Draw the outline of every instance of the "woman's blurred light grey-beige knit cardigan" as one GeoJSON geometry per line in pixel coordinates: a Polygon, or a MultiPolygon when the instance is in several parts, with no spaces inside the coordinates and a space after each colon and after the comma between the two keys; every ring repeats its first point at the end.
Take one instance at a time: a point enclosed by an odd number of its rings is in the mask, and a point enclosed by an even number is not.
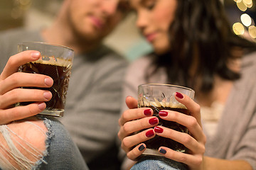
{"type": "MultiPolygon", "coordinates": [[[[142,57],[129,66],[123,98],[137,98],[139,84],[166,84],[163,70],[146,82],[144,73],[151,69],[150,62],[149,57],[142,57]]],[[[122,105],[122,111],[126,110],[124,101],[122,105]]],[[[235,81],[228,96],[216,135],[207,138],[205,155],[220,159],[242,159],[256,170],[256,52],[242,59],[242,77],[235,81]]]]}

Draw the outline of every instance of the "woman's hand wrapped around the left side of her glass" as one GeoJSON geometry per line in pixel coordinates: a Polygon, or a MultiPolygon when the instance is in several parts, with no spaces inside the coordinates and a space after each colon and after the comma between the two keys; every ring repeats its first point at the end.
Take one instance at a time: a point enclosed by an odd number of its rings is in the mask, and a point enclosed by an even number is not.
{"type": "Polygon", "coordinates": [[[127,157],[136,160],[146,148],[146,145],[142,142],[156,135],[153,127],[158,125],[159,120],[152,116],[151,108],[137,108],[138,103],[135,98],[128,96],[126,103],[129,110],[124,111],[121,118],[119,118],[118,137],[122,142],[122,149],[127,153],[127,157]],[[135,134],[140,130],[144,131],[135,134]],[[138,145],[139,143],[142,144],[138,145]],[[138,146],[134,147],[135,145],[138,146]]]}

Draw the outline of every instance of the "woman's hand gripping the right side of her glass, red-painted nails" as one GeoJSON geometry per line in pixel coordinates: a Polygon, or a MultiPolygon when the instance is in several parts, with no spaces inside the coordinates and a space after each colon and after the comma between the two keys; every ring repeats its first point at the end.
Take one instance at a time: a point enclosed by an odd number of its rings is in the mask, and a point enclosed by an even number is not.
{"type": "Polygon", "coordinates": [[[204,135],[201,125],[200,106],[186,95],[176,93],[176,100],[182,103],[191,115],[185,115],[176,111],[160,111],[159,116],[164,120],[174,121],[188,128],[189,134],[171,130],[162,126],[156,126],[156,135],[167,137],[176,142],[180,142],[189,149],[188,154],[176,152],[167,147],[160,147],[159,152],[164,157],[176,162],[187,164],[190,169],[203,169],[203,154],[205,152],[206,135],[204,135]]]}

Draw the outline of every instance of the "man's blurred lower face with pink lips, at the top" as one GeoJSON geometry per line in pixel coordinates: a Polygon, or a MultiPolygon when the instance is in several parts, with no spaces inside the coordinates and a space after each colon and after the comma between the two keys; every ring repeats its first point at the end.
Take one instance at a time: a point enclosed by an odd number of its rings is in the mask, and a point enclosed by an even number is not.
{"type": "Polygon", "coordinates": [[[79,38],[102,40],[123,17],[118,5],[119,0],[70,0],[68,22],[79,38]]]}

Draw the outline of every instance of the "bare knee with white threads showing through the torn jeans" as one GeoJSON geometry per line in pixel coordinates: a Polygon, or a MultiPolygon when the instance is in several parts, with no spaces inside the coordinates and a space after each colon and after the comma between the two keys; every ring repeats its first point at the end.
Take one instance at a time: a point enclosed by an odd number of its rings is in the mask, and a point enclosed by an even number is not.
{"type": "Polygon", "coordinates": [[[4,130],[0,135],[0,145],[4,150],[0,150],[0,154],[6,158],[5,164],[15,168],[32,167],[43,157],[48,132],[43,120],[19,120],[6,125],[4,130]]]}

